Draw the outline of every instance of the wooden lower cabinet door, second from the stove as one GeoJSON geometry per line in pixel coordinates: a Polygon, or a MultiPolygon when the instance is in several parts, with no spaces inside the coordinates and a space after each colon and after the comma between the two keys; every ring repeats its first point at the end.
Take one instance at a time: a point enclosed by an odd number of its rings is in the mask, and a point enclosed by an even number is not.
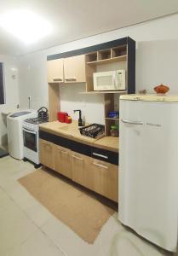
{"type": "Polygon", "coordinates": [[[55,171],[72,177],[71,150],[55,145],[55,171]]]}

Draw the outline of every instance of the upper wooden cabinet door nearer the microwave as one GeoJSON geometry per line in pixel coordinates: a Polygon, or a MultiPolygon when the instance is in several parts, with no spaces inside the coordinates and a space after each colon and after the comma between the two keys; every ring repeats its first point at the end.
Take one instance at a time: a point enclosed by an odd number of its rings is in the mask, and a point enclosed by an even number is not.
{"type": "Polygon", "coordinates": [[[64,59],[64,74],[66,83],[85,82],[84,55],[78,55],[64,59]]]}

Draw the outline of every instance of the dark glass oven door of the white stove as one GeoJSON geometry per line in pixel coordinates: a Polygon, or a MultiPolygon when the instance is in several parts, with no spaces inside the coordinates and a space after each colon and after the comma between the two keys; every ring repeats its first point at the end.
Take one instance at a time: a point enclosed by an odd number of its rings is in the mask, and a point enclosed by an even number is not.
{"type": "Polygon", "coordinates": [[[24,147],[37,152],[37,131],[30,131],[23,128],[24,147]]]}

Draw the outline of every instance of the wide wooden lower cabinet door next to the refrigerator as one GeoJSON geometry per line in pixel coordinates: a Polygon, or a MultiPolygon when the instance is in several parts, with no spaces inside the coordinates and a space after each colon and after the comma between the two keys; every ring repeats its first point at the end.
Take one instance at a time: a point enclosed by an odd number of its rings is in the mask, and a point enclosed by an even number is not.
{"type": "Polygon", "coordinates": [[[118,201],[118,166],[91,160],[87,172],[87,187],[112,201],[118,201]]]}

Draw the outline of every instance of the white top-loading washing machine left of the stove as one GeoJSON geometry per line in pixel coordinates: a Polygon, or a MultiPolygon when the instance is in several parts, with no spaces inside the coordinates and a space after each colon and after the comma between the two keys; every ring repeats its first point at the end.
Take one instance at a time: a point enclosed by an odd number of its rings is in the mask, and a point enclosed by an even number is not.
{"type": "Polygon", "coordinates": [[[9,154],[16,159],[23,159],[22,121],[36,118],[37,110],[26,109],[10,113],[7,118],[9,154]]]}

